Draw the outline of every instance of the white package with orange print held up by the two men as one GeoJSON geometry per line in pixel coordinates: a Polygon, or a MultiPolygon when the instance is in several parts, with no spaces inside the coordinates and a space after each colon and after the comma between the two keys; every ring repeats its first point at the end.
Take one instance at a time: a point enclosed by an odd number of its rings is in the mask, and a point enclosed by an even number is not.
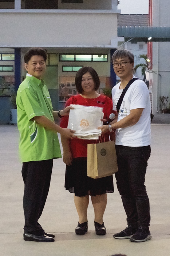
{"type": "Polygon", "coordinates": [[[68,128],[75,130],[74,133],[81,139],[98,139],[102,126],[103,108],[71,104],[74,109],[70,110],[68,128]],[[82,138],[83,137],[83,138],[82,138]]]}

